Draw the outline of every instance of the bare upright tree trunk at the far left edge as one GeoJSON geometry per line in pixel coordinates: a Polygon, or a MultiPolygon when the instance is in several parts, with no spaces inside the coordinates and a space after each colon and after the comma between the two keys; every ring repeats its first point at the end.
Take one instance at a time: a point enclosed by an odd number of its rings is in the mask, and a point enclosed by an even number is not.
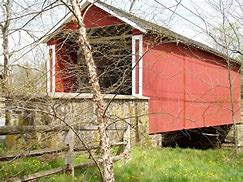
{"type": "Polygon", "coordinates": [[[3,36],[3,91],[4,93],[7,92],[8,84],[9,84],[9,59],[10,59],[10,51],[9,51],[9,25],[10,25],[10,17],[11,17],[11,2],[10,0],[7,0],[3,3],[2,6],[3,13],[4,13],[4,20],[5,22],[3,24],[0,24],[1,27],[1,33],[3,36]]]}

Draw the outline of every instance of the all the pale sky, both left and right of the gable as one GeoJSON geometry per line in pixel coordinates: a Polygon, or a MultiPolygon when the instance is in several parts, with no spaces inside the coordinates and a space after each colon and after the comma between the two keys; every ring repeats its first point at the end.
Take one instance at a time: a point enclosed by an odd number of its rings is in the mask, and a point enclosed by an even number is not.
{"type": "MultiPolygon", "coordinates": [[[[22,0],[16,1],[21,3],[23,2],[22,0]]],[[[129,11],[131,7],[131,0],[104,1],[126,11],[129,11]]],[[[217,27],[220,24],[220,19],[216,16],[215,11],[209,5],[210,0],[181,0],[180,4],[176,6],[178,1],[179,0],[136,0],[130,12],[136,16],[152,21],[161,26],[165,26],[188,38],[211,46],[212,42],[210,41],[208,35],[205,33],[205,21],[207,24],[217,27]],[[201,18],[195,14],[199,14],[201,18]]],[[[37,10],[41,7],[41,2],[43,2],[43,0],[25,0],[24,2],[27,4],[31,4],[32,2],[33,5],[31,8],[37,10]]],[[[67,12],[68,10],[66,8],[59,6],[51,11],[45,12],[40,17],[36,18],[26,27],[26,29],[30,29],[34,36],[41,37],[67,12]]],[[[16,5],[15,14],[18,13],[23,13],[23,10],[21,10],[21,8],[17,8],[16,5]]],[[[0,21],[1,19],[2,16],[0,16],[0,21]]],[[[26,19],[28,19],[28,17],[26,19]]],[[[13,22],[12,28],[21,27],[24,22],[26,22],[26,20],[22,22],[13,22]]],[[[25,45],[28,45],[31,42],[33,42],[33,38],[25,31],[16,31],[11,35],[11,49],[15,50],[17,47],[23,47],[21,51],[14,54],[14,62],[19,62],[19,60],[24,62],[26,60],[28,61],[34,59],[33,62],[38,63],[41,61],[38,60],[38,58],[41,57],[42,59],[43,57],[41,54],[48,54],[48,50],[43,45],[40,47],[42,49],[41,51],[30,51],[36,45],[32,44],[31,46],[27,47],[25,47],[25,45]],[[26,52],[28,52],[28,54],[23,57],[20,56],[26,52]]],[[[0,60],[3,60],[1,53],[0,60]]]]}

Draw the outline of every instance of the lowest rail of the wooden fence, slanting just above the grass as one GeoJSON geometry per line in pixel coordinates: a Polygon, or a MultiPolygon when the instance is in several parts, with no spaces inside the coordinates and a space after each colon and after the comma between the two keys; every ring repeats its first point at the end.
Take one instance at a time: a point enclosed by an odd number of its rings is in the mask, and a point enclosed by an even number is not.
{"type": "MultiPolygon", "coordinates": [[[[114,156],[112,158],[112,160],[114,162],[118,161],[120,159],[121,159],[120,156],[114,156]]],[[[102,160],[97,160],[97,162],[101,163],[102,160]]],[[[93,167],[95,165],[96,164],[94,162],[86,162],[86,163],[74,165],[74,168],[80,169],[80,168],[93,167]]],[[[36,180],[36,179],[41,178],[41,177],[46,177],[46,176],[50,176],[50,175],[53,175],[53,174],[62,173],[64,171],[65,171],[65,167],[58,167],[58,168],[54,168],[54,169],[50,169],[50,170],[46,170],[46,171],[37,172],[37,173],[31,174],[31,175],[25,175],[25,176],[22,176],[22,177],[19,177],[19,178],[18,177],[12,178],[12,179],[9,179],[9,181],[22,181],[22,182],[31,181],[31,180],[36,180]]]]}

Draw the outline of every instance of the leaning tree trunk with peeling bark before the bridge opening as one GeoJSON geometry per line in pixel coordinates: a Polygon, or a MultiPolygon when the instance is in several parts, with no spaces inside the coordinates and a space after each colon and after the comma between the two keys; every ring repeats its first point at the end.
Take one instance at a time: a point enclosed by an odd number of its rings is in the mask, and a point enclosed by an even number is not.
{"type": "Polygon", "coordinates": [[[89,82],[92,87],[93,100],[96,104],[96,117],[99,123],[99,133],[101,140],[101,154],[103,160],[103,181],[114,181],[113,162],[111,158],[111,149],[109,136],[106,132],[108,126],[108,118],[104,115],[105,104],[100,90],[99,79],[97,76],[95,62],[92,56],[91,45],[88,41],[86,29],[83,24],[83,18],[81,16],[81,9],[77,0],[71,0],[73,13],[78,21],[78,44],[83,51],[85,62],[88,68],[89,82]]]}

